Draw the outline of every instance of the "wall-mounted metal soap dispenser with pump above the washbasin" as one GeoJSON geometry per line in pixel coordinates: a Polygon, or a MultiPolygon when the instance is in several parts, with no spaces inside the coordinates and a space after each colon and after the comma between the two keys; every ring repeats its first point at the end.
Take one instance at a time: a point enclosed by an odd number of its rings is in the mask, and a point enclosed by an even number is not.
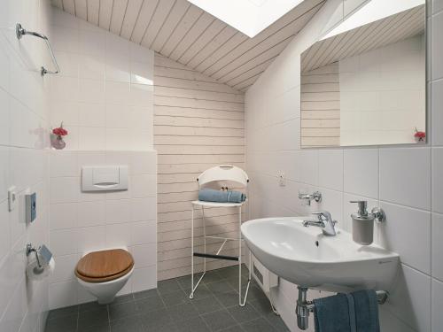
{"type": "Polygon", "coordinates": [[[361,245],[369,245],[374,241],[374,220],[384,221],[385,212],[380,208],[373,208],[368,213],[367,201],[350,201],[358,204],[358,212],[351,214],[353,219],[353,240],[361,245]]]}

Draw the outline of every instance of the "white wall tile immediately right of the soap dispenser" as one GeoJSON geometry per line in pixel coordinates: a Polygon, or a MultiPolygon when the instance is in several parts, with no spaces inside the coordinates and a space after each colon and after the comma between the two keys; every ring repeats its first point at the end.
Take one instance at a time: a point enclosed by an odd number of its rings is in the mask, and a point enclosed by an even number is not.
{"type": "Polygon", "coordinates": [[[378,225],[379,244],[400,254],[402,263],[431,274],[431,212],[385,202],[380,207],[386,220],[378,225]]]}

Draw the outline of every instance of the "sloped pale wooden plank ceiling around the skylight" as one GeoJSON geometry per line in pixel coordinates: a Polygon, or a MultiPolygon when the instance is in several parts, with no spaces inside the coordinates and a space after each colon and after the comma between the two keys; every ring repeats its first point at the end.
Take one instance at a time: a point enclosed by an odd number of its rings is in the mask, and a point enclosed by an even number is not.
{"type": "Polygon", "coordinates": [[[318,12],[325,0],[305,0],[253,38],[187,0],[51,2],[80,19],[245,91],[318,12]]]}

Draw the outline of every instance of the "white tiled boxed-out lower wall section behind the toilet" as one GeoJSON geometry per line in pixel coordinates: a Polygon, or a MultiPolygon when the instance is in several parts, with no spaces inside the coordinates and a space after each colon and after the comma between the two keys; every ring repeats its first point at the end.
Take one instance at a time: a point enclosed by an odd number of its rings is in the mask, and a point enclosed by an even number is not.
{"type": "Polygon", "coordinates": [[[88,251],[131,252],[136,269],[120,294],[157,286],[156,168],[155,151],[51,151],[50,244],[57,262],[51,309],[94,300],[74,275],[88,251]],[[128,165],[128,190],[82,192],[82,166],[100,165],[128,165]]]}

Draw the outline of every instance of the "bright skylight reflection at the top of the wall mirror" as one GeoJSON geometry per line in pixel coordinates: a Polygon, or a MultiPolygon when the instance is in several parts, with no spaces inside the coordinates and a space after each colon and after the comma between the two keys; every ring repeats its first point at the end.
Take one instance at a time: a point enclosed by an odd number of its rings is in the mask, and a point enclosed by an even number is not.
{"type": "Polygon", "coordinates": [[[388,16],[407,11],[421,4],[425,4],[425,0],[371,0],[340,23],[338,27],[332,29],[322,40],[353,30],[355,27],[375,22],[378,19],[385,19],[388,16]]]}

